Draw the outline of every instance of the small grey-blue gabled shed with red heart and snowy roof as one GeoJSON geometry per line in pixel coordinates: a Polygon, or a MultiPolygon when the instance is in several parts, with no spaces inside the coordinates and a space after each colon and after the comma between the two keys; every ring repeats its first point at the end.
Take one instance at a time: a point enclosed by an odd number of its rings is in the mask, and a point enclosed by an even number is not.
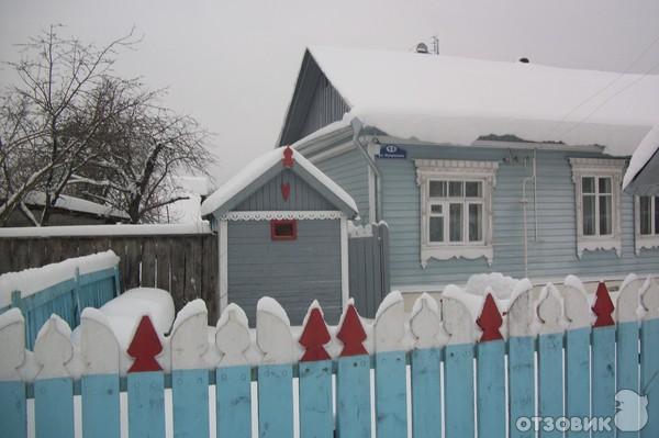
{"type": "Polygon", "coordinates": [[[220,310],[236,303],[254,324],[258,300],[271,296],[300,325],[319,300],[327,321],[338,321],[357,204],[300,153],[275,149],[254,160],[201,213],[219,234],[220,310]]]}

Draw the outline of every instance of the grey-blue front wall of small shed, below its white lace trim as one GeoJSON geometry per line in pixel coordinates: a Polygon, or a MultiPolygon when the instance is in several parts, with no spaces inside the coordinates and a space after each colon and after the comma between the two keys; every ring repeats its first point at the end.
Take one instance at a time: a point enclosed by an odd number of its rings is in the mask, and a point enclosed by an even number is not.
{"type": "Polygon", "coordinates": [[[298,221],[295,240],[271,240],[269,221],[230,221],[227,225],[228,301],[256,324],[256,304],[271,296],[301,325],[313,300],[325,319],[340,314],[340,221],[298,221]]]}

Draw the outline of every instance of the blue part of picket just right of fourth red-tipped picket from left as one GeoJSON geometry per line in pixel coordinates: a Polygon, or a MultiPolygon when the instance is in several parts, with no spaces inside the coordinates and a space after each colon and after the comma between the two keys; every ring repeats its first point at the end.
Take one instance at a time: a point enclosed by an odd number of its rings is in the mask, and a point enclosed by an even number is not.
{"type": "Polygon", "coordinates": [[[535,338],[509,339],[509,429],[511,438],[535,437],[526,429],[524,418],[535,415],[535,338]],[[517,423],[520,422],[520,426],[517,423]]]}

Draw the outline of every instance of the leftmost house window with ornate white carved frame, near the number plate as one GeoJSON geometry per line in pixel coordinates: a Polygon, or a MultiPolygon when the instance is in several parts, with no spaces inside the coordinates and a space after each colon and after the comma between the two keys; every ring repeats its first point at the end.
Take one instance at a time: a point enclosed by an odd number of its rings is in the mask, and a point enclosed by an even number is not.
{"type": "Polygon", "coordinates": [[[492,262],[494,161],[417,159],[421,263],[484,257],[492,262]]]}

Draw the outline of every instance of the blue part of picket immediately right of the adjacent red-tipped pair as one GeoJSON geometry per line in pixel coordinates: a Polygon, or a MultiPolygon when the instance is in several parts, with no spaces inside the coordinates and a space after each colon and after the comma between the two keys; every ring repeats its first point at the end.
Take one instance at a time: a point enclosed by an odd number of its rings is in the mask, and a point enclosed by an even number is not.
{"type": "Polygon", "coordinates": [[[380,438],[407,434],[406,382],[404,351],[376,353],[376,430],[380,438]]]}

